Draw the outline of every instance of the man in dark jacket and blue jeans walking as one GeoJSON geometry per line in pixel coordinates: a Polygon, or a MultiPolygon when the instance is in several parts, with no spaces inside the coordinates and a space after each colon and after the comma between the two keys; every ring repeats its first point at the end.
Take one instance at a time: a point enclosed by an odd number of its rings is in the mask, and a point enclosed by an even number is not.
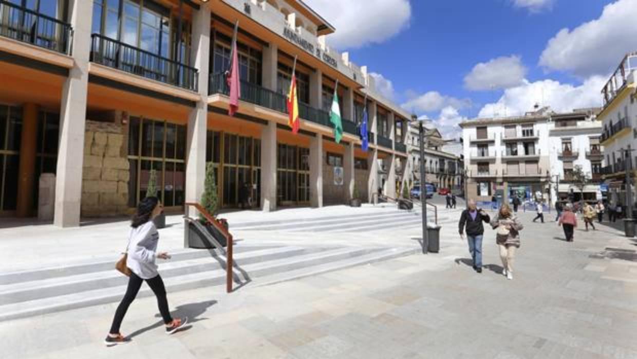
{"type": "Polygon", "coordinates": [[[489,223],[490,220],[487,212],[478,209],[474,200],[469,200],[468,209],[462,211],[458,223],[458,231],[462,240],[464,240],[464,232],[467,233],[473,269],[478,273],[482,273],[482,235],[484,233],[482,222],[489,223]]]}

